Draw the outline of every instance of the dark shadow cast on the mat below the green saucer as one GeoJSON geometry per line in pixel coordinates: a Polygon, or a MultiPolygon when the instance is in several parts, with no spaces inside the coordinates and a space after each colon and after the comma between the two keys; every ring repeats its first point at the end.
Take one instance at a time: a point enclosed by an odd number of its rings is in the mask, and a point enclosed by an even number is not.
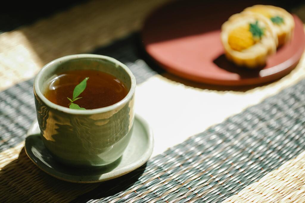
{"type": "Polygon", "coordinates": [[[107,197],[132,186],[145,167],[146,164],[123,177],[104,183],[70,183],[40,170],[22,148],[18,159],[0,171],[0,202],[69,202],[79,198],[84,201],[93,197],[107,197]]]}

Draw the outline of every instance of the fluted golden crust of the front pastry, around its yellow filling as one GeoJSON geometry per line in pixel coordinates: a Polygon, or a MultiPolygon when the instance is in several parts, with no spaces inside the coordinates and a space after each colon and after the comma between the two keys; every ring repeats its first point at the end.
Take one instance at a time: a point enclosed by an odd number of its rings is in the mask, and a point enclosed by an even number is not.
{"type": "Polygon", "coordinates": [[[221,40],[224,45],[226,57],[236,65],[246,66],[248,68],[257,68],[266,63],[267,56],[276,52],[278,39],[270,20],[263,15],[253,12],[241,12],[231,16],[221,26],[221,40]],[[264,29],[264,35],[261,39],[242,51],[233,50],[228,43],[229,34],[240,26],[256,23],[264,29]]]}

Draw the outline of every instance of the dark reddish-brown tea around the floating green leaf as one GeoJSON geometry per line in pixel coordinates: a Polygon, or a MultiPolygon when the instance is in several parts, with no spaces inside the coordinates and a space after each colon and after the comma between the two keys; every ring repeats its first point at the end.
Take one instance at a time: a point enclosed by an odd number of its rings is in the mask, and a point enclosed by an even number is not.
{"type": "Polygon", "coordinates": [[[97,109],[107,107],[122,100],[128,93],[119,79],[105,72],[95,70],[75,70],[62,72],[48,84],[44,96],[51,102],[69,108],[75,86],[85,78],[87,85],[74,101],[79,107],[97,109]]]}

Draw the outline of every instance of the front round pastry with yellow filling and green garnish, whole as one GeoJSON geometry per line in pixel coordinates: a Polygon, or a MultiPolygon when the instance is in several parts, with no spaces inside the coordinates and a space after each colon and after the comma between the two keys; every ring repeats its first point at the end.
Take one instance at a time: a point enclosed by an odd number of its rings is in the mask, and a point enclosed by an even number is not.
{"type": "Polygon", "coordinates": [[[221,26],[226,57],[236,65],[256,68],[276,52],[278,39],[271,21],[261,14],[241,12],[221,26]]]}

